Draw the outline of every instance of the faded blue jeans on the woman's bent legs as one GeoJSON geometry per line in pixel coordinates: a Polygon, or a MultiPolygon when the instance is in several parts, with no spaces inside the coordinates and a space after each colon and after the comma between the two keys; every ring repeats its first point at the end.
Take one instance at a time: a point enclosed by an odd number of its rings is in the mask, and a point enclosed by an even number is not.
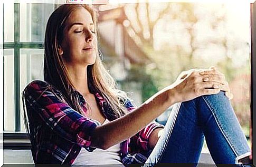
{"type": "Polygon", "coordinates": [[[198,163],[204,139],[215,164],[237,164],[250,147],[229,99],[221,91],[176,103],[145,163],[198,163]]]}

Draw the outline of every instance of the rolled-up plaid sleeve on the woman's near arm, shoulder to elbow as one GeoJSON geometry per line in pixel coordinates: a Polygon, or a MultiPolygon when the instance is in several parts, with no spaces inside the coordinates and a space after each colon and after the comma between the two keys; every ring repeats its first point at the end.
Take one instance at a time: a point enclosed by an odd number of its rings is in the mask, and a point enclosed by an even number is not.
{"type": "Polygon", "coordinates": [[[27,85],[24,90],[27,115],[30,116],[32,112],[38,114],[46,126],[62,138],[77,143],[88,151],[94,150],[90,148],[91,135],[100,123],[72,109],[68,103],[56,96],[58,90],[52,91],[49,87],[49,83],[39,80],[27,85]]]}

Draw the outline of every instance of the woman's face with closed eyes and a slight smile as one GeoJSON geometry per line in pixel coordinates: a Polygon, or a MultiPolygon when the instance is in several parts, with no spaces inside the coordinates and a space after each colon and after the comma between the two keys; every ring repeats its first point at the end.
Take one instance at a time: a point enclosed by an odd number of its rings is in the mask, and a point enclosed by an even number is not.
{"type": "Polygon", "coordinates": [[[91,14],[85,8],[73,11],[64,28],[64,38],[59,54],[69,65],[87,66],[96,60],[96,26],[91,14]]]}

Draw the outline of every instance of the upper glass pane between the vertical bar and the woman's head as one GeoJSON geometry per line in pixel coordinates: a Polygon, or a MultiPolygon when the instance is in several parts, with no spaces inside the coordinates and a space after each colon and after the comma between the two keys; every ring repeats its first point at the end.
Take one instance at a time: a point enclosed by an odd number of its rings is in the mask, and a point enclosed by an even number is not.
{"type": "MultiPolygon", "coordinates": [[[[54,1],[53,1],[54,3],[54,1]]],[[[54,4],[20,4],[21,41],[44,41],[47,20],[54,4]]]]}

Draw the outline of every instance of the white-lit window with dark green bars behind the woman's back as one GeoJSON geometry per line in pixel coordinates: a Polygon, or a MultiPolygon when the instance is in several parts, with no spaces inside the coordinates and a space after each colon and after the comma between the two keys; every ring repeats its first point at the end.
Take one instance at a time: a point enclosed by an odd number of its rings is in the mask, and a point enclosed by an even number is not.
{"type": "Polygon", "coordinates": [[[4,132],[25,133],[21,94],[31,80],[43,79],[44,32],[54,3],[4,3],[4,132]]]}

